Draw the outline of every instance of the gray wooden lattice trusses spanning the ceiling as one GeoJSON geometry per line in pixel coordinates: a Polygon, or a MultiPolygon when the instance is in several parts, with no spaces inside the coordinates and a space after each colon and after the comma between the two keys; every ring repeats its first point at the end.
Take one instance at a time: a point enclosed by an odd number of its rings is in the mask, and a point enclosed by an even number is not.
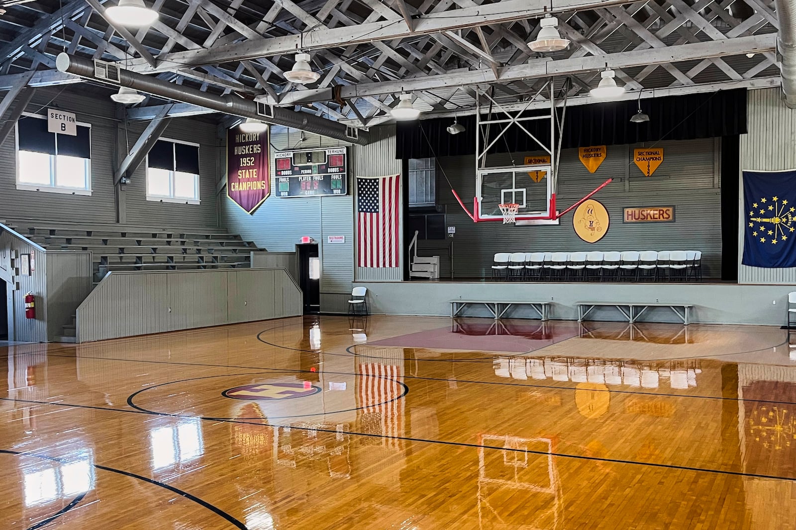
{"type": "MultiPolygon", "coordinates": [[[[214,94],[263,96],[373,126],[390,119],[402,91],[427,113],[466,114],[479,88],[494,87],[501,106],[524,106],[554,77],[557,95],[566,90],[586,103],[606,67],[633,98],[778,83],[773,0],[553,2],[572,44],[544,56],[527,43],[536,19],[551,10],[548,0],[154,0],[158,21],[134,31],[111,24],[105,3],[10,6],[0,18],[0,90],[25,76],[29,87],[80,82],[53,71],[55,56],[68,51],[214,94]],[[30,16],[31,6],[40,16],[30,16]],[[318,83],[284,79],[298,51],[310,52],[318,83]]],[[[210,112],[150,97],[127,114],[151,119],[164,105],[168,116],[210,112]]]]}

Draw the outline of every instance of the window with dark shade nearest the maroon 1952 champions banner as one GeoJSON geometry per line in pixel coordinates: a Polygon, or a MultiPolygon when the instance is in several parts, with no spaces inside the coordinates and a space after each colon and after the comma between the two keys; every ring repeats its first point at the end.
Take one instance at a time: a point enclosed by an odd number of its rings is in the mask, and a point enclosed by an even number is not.
{"type": "Polygon", "coordinates": [[[158,140],[146,156],[146,200],[199,203],[199,145],[158,140]]]}

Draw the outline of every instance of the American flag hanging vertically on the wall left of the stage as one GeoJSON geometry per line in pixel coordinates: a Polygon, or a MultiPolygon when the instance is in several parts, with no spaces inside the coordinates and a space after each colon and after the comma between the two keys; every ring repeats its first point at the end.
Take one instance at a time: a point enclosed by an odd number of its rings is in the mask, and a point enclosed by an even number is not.
{"type": "Polygon", "coordinates": [[[398,266],[400,176],[357,177],[357,264],[398,266]]]}

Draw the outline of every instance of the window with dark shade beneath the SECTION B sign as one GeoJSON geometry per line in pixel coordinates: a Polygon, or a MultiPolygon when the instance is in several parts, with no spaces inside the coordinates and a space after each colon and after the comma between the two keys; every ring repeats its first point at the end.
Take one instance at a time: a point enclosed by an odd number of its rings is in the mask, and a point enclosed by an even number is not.
{"type": "Polygon", "coordinates": [[[76,136],[50,133],[47,119],[23,114],[17,122],[17,189],[92,194],[91,125],[76,136]]]}

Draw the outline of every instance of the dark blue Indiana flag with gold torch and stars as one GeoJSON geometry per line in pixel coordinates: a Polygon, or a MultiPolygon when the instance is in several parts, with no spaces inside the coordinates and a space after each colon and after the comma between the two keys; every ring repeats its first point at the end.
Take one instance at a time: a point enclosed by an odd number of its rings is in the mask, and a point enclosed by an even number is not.
{"type": "Polygon", "coordinates": [[[796,170],[743,172],[743,265],[796,267],[796,170]]]}

